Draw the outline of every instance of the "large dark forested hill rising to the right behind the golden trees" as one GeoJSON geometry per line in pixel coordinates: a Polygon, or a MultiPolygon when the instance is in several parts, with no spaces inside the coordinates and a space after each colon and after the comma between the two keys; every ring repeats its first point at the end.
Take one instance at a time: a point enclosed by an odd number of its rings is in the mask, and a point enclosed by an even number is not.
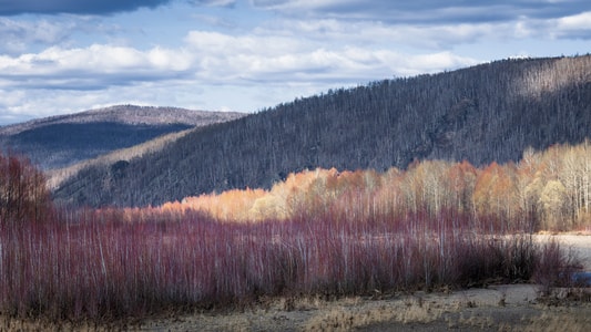
{"type": "Polygon", "coordinates": [[[590,55],[505,60],[329,91],[203,127],[161,153],[86,168],[54,195],[75,205],[157,205],[269,187],[304,168],[505,163],[530,146],[590,136],[590,55]]]}

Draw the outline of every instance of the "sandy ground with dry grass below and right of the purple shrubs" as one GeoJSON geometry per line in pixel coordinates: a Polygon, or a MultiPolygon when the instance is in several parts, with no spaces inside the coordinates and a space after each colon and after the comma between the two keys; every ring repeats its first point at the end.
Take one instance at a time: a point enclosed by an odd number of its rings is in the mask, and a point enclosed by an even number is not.
{"type": "MultiPolygon", "coordinates": [[[[591,271],[591,236],[536,236],[558,239],[591,271]]],[[[375,294],[338,300],[275,299],[242,312],[161,317],[116,326],[59,326],[60,330],[122,331],[591,331],[591,289],[556,290],[541,299],[534,284],[492,284],[485,289],[375,294]],[[578,300],[563,299],[574,294],[578,300]]],[[[48,330],[23,322],[0,331],[48,330]]]]}

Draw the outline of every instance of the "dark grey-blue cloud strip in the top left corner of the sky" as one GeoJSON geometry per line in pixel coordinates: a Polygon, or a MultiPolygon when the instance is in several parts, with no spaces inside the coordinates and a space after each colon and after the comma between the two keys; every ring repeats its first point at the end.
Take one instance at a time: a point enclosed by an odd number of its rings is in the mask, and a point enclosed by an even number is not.
{"type": "MultiPolygon", "coordinates": [[[[172,0],[0,0],[0,15],[21,13],[109,14],[155,8],[172,0]]],[[[221,0],[218,0],[221,1],[221,0]]]]}

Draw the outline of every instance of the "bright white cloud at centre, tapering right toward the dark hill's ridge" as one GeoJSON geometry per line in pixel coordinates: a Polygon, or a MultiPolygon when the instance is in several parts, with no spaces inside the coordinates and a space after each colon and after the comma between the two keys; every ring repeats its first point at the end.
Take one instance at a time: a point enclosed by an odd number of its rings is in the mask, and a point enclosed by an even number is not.
{"type": "MultiPolygon", "coordinates": [[[[268,31],[267,31],[268,33],[268,31]]],[[[408,75],[441,71],[476,63],[475,60],[436,52],[411,55],[387,48],[332,45],[322,40],[300,40],[289,35],[227,35],[193,31],[186,38],[188,48],[198,54],[197,75],[210,81],[244,80],[246,82],[332,81],[361,83],[385,73],[408,75]],[[445,59],[445,60],[444,60],[445,59]],[[404,65],[403,65],[404,64],[404,65]]]]}

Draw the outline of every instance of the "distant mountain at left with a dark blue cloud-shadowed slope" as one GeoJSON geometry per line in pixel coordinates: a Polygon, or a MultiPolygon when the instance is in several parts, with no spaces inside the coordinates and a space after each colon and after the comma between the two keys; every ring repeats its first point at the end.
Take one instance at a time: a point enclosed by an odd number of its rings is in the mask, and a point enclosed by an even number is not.
{"type": "Polygon", "coordinates": [[[0,127],[0,151],[26,154],[48,170],[164,134],[241,116],[230,112],[119,105],[0,127]]]}

